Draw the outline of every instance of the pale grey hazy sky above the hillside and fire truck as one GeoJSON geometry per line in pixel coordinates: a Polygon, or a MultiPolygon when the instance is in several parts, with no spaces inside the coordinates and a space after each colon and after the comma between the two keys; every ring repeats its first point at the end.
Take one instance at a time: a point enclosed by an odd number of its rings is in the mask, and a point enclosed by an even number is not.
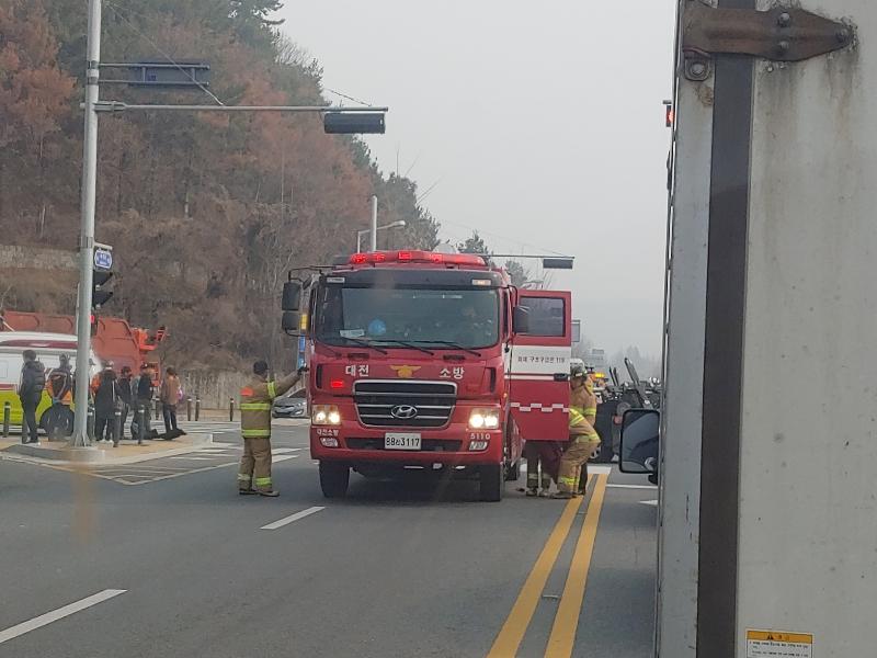
{"type": "Polygon", "coordinates": [[[443,238],[477,228],[494,252],[577,257],[551,283],[595,347],[659,354],[674,10],[286,0],[280,15],[327,88],[390,107],[368,145],[385,172],[398,159],[435,184],[424,205],[443,238]]]}

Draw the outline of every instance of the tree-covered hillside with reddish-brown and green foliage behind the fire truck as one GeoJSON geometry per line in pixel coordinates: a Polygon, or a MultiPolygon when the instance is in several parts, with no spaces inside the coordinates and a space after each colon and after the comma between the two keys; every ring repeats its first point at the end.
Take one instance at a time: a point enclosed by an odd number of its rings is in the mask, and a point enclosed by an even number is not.
{"type": "MultiPolygon", "coordinates": [[[[266,16],[276,0],[104,0],[103,61],[206,59],[225,104],[322,104],[321,68],[266,16]]],[[[0,241],[75,250],[79,228],[84,4],[0,0],[0,241]]],[[[294,34],[294,25],[282,26],[294,34]]],[[[102,98],[212,103],[202,91],[102,87],[102,98]]],[[[391,115],[390,115],[391,120],[391,115]]],[[[391,247],[431,248],[437,224],[417,185],[385,177],[365,145],[328,136],[319,116],[134,113],[101,120],[96,237],[115,247],[105,313],[170,329],[182,367],[235,367],[284,342],[278,293],[292,266],[355,247],[368,197],[391,247]]],[[[71,313],[71,291],[0,290],[71,313]]],[[[42,285],[42,284],[39,284],[42,285]]]]}

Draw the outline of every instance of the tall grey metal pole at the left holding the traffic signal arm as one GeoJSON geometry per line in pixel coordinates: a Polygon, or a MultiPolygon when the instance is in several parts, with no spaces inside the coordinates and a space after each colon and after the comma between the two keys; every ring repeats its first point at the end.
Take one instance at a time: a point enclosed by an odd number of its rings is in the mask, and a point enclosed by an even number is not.
{"type": "Polygon", "coordinates": [[[91,286],[94,261],[94,206],[98,195],[98,111],[100,101],[101,0],[89,0],[86,61],[86,135],[82,156],[82,226],[79,237],[77,300],[76,421],[73,447],[91,445],[88,432],[91,354],[91,286]]]}

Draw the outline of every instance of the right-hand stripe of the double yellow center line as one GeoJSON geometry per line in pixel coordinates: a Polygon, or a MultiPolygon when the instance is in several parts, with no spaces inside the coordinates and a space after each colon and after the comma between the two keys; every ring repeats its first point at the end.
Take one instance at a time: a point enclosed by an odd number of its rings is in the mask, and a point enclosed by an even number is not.
{"type": "Polygon", "coordinates": [[[551,636],[548,638],[546,658],[569,658],[576,644],[576,629],[579,626],[579,615],[584,601],[584,586],[588,582],[588,571],[591,568],[591,557],[594,554],[594,540],[600,524],[600,511],[603,508],[603,497],[606,492],[608,475],[599,475],[594,494],[588,506],[582,531],[576,544],[567,585],[557,609],[551,636]]]}

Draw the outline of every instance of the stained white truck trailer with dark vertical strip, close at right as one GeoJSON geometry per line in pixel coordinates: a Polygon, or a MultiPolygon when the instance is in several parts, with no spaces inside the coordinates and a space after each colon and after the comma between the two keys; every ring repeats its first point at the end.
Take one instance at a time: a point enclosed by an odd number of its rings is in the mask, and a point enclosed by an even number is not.
{"type": "Polygon", "coordinates": [[[877,2],[676,43],[654,655],[872,658],[877,2]]]}

